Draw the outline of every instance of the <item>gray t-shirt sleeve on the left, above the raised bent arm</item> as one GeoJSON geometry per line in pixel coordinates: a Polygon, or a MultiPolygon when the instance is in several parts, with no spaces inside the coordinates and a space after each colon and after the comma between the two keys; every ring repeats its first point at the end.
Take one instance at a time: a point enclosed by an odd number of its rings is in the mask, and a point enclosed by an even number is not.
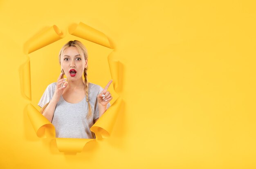
{"type": "Polygon", "coordinates": [[[56,84],[52,83],[48,85],[37,105],[40,106],[41,108],[44,105],[46,105],[52,99],[55,89],[56,89],[56,84]]]}

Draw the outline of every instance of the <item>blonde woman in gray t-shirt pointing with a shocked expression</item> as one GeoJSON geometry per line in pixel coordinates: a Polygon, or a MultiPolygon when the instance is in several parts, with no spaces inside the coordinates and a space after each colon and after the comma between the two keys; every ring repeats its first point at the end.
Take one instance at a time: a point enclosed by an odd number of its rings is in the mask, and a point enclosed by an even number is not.
{"type": "Polygon", "coordinates": [[[107,90],[112,80],[104,89],[88,82],[87,50],[77,40],[62,47],[59,62],[57,82],[48,85],[38,103],[41,113],[54,125],[57,138],[95,138],[90,128],[110,107],[112,97],[107,90]]]}

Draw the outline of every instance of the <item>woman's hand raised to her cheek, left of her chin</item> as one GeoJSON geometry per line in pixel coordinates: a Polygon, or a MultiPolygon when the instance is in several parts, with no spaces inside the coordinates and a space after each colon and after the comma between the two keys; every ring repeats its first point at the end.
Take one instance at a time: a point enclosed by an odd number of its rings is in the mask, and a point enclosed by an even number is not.
{"type": "Polygon", "coordinates": [[[67,79],[64,79],[63,76],[64,76],[63,73],[61,73],[60,76],[58,77],[56,89],[52,97],[52,99],[55,100],[56,102],[60,100],[63,91],[67,88],[67,85],[68,85],[68,82],[66,81],[67,79]]]}

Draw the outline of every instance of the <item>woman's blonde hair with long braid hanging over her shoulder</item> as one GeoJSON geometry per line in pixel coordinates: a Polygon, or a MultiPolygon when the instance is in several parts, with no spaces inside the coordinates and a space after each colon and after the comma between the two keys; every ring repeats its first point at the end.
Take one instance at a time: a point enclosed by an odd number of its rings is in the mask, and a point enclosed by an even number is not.
{"type": "MultiPolygon", "coordinates": [[[[58,56],[58,61],[60,62],[60,64],[61,64],[61,56],[63,56],[64,50],[67,49],[68,47],[76,47],[76,49],[78,49],[78,51],[79,51],[79,54],[81,56],[84,56],[85,60],[88,59],[88,52],[87,52],[87,49],[85,48],[85,46],[81,42],[79,42],[78,40],[74,40],[74,41],[70,40],[69,42],[67,42],[61,48],[61,51],[60,51],[59,56],[58,56]]],[[[89,82],[87,80],[87,70],[88,70],[88,65],[83,70],[83,76],[84,76],[84,82],[85,82],[86,102],[88,103],[88,108],[89,108],[89,111],[88,111],[88,114],[87,114],[86,118],[90,118],[92,116],[92,108],[91,108],[91,105],[89,103],[89,98],[88,98],[89,82]]]]}

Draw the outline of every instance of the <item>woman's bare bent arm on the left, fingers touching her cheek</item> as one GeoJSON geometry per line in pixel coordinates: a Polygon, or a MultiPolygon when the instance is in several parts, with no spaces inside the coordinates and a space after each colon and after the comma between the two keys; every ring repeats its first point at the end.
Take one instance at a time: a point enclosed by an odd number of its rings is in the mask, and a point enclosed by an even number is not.
{"type": "Polygon", "coordinates": [[[45,116],[45,118],[47,118],[50,122],[52,122],[52,118],[53,118],[54,111],[55,111],[56,105],[58,103],[58,100],[60,100],[60,97],[61,97],[64,89],[67,87],[67,85],[68,85],[67,81],[65,79],[63,79],[63,73],[61,73],[57,80],[54,95],[53,95],[52,99],[50,100],[50,102],[48,103],[48,105],[46,105],[46,107],[44,107],[44,110],[42,112],[43,116],[45,116]],[[61,86],[62,84],[63,84],[63,86],[61,86]]]}

